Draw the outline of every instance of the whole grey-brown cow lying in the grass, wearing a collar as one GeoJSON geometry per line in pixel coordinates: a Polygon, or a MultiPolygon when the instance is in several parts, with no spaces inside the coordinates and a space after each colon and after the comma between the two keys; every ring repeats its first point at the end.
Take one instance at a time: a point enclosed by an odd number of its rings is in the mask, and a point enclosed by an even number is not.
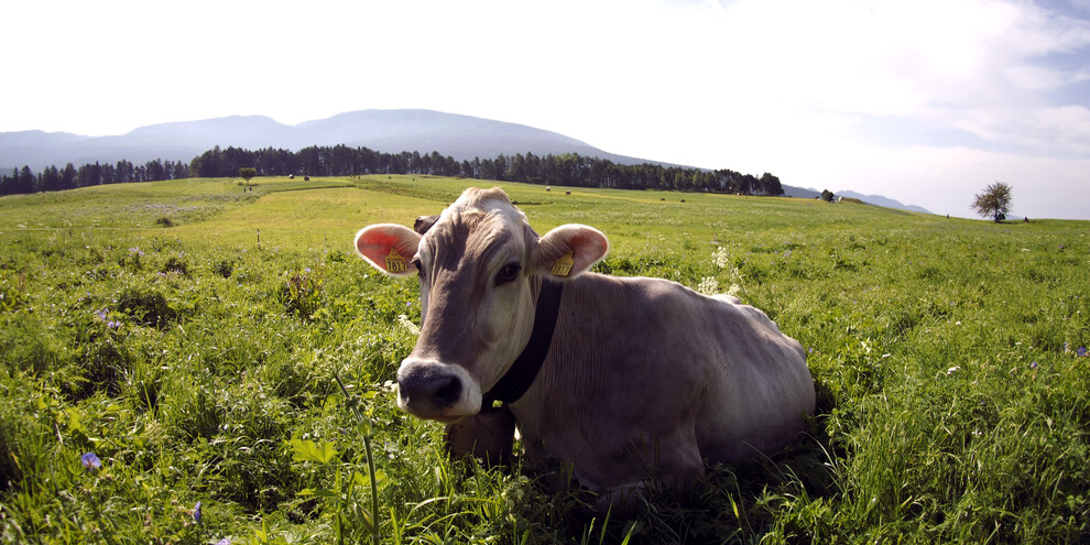
{"type": "Polygon", "coordinates": [[[814,413],[798,341],[735,297],[590,272],[609,250],[595,228],[538,236],[502,189],[469,188],[416,229],[366,227],[356,251],[419,277],[397,405],[447,424],[454,451],[502,457],[517,426],[528,460],[607,497],[781,451],[814,413]]]}

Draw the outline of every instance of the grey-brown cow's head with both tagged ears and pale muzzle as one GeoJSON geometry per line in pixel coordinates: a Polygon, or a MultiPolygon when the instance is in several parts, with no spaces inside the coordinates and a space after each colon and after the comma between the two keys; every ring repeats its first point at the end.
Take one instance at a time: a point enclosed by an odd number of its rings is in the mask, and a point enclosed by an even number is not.
{"type": "Polygon", "coordinates": [[[419,276],[421,335],[397,370],[397,406],[455,422],[480,412],[482,395],[526,346],[541,279],[582,274],[609,242],[580,225],[538,237],[499,188],[469,188],[417,229],[367,227],[356,250],[388,274],[419,276]]]}

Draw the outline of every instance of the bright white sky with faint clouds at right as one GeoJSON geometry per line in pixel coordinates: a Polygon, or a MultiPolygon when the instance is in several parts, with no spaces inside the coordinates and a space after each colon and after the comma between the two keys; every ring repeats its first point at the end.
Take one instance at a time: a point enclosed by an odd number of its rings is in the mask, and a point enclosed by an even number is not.
{"type": "Polygon", "coordinates": [[[1014,215],[1090,219],[1090,0],[35,0],[0,20],[0,131],[424,108],[959,217],[1004,182],[1014,215]]]}

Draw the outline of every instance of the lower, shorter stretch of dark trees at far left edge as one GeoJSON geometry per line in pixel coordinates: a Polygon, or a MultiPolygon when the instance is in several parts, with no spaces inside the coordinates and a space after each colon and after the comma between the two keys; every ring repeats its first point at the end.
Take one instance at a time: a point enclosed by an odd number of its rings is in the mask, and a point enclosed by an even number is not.
{"type": "Polygon", "coordinates": [[[14,168],[11,175],[0,176],[0,195],[18,195],[39,192],[59,192],[92,185],[127,184],[132,182],[159,182],[189,177],[189,165],[184,161],[153,160],[134,165],[121,160],[117,164],[85,164],[78,168],[68,163],[64,168],[47,166],[35,174],[30,166],[14,168]]]}

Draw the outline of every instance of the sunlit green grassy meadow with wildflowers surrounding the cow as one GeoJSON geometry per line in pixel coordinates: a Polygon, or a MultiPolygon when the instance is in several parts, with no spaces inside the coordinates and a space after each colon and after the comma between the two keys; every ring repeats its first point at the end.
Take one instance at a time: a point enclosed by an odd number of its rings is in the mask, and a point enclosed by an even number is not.
{"type": "Polygon", "coordinates": [[[1090,534],[1086,222],[495,183],[538,232],[606,232],[599,272],[731,291],[808,352],[818,414],[797,445],[687,489],[652,480],[634,512],[599,513],[590,491],[517,460],[448,460],[440,425],[396,410],[417,286],[364,264],[352,236],[411,226],[469,184],[185,179],[0,198],[0,539],[1090,534]]]}

